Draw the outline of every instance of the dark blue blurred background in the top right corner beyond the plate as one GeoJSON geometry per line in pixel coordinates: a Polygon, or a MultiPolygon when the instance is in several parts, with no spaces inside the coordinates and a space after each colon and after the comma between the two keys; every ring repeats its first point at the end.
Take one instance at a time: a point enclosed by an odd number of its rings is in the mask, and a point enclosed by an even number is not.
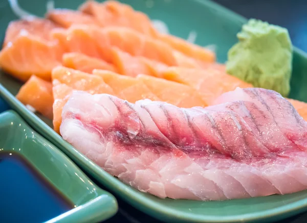
{"type": "Polygon", "coordinates": [[[294,46],[307,52],[307,0],[215,0],[214,2],[247,18],[258,18],[287,28],[294,46]]]}

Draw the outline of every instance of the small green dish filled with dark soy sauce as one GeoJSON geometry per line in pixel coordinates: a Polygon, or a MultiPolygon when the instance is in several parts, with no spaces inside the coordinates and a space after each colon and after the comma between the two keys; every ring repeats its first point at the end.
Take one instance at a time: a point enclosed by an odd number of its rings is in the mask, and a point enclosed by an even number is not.
{"type": "Polygon", "coordinates": [[[1,222],[100,222],[117,212],[100,189],[14,111],[0,114],[1,222]]]}

